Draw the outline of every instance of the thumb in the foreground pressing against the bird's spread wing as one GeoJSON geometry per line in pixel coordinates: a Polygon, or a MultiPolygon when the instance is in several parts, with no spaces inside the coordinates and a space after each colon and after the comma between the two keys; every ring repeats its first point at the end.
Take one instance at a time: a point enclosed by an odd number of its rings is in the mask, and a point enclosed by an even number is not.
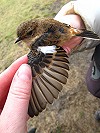
{"type": "Polygon", "coordinates": [[[10,130],[11,128],[12,130],[18,129],[26,124],[31,84],[31,68],[29,65],[23,64],[13,78],[5,106],[1,113],[1,119],[5,125],[7,121],[7,126],[10,130]]]}

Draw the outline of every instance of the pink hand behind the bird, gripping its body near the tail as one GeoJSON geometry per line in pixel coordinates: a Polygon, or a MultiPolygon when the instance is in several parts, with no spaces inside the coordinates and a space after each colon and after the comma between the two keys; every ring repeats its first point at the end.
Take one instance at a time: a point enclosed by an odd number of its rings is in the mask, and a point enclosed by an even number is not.
{"type": "MultiPolygon", "coordinates": [[[[62,9],[58,12],[54,19],[62,23],[69,24],[77,29],[85,29],[85,25],[82,18],[78,14],[67,15],[68,10],[69,7],[66,4],[64,7],[62,7],[62,9]]],[[[63,48],[67,53],[70,53],[73,48],[75,48],[82,42],[82,40],[83,39],[81,37],[72,37],[70,41],[67,41],[63,44],[63,48]]]]}

